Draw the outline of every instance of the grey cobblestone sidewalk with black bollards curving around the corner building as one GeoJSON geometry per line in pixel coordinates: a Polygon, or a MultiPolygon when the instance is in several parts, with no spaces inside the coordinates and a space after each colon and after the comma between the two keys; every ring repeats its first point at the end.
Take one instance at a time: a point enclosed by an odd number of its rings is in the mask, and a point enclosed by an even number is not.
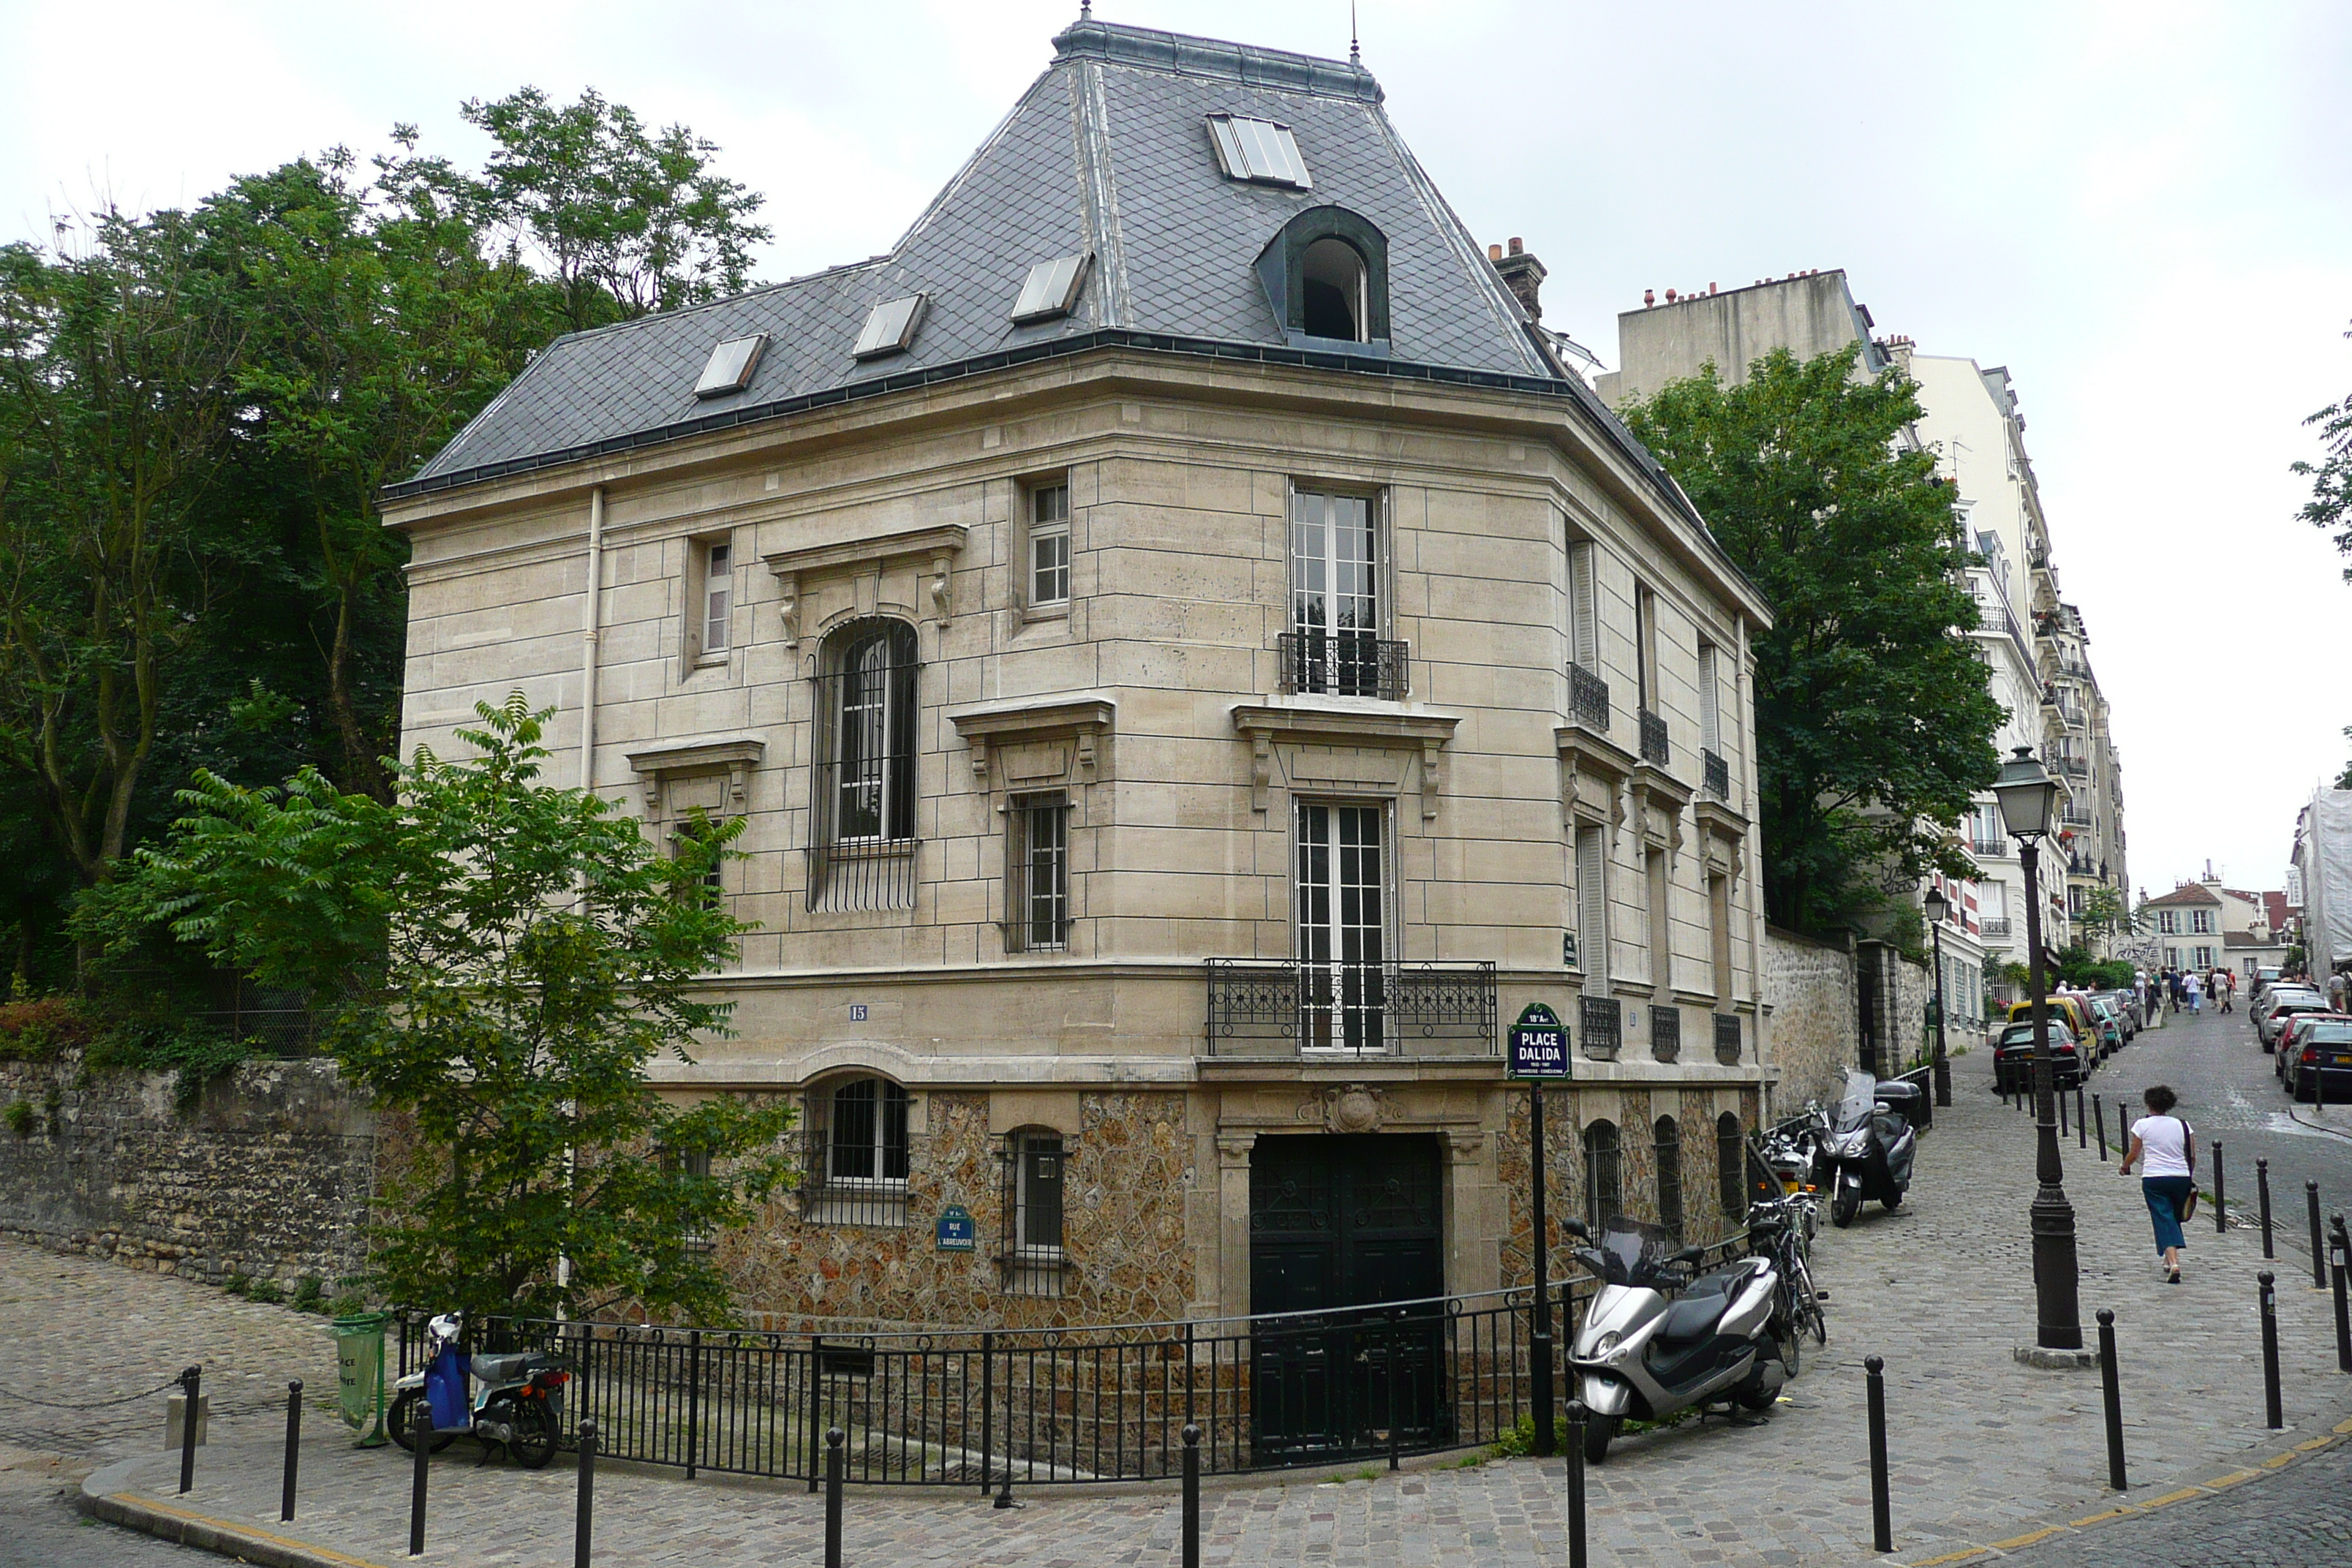
{"type": "MultiPolygon", "coordinates": [[[[1957,1105],[1938,1114],[1922,1143],[1912,1199],[1898,1213],[1872,1206],[1846,1232],[1823,1229],[1816,1258],[1832,1291],[1830,1345],[1806,1345],[1804,1375],[1773,1420],[1752,1429],[1708,1420],[1630,1439],[1590,1472],[1595,1563],[1950,1563],[1990,1547],[2025,1547],[2049,1528],[2065,1530],[2117,1507],[2105,1490],[2098,1373],[2034,1371],[2011,1356],[2032,1338],[2032,1128],[1985,1091],[1973,1065],[1973,1058],[1962,1063],[1957,1105]],[[1870,1552],[1865,1354],[1886,1356],[1893,1559],[1870,1552]]],[[[2187,1284],[2161,1286],[2138,1182],[2119,1180],[2096,1147],[2077,1150],[2072,1140],[2065,1161],[2086,1333],[2098,1307],[2117,1312],[2133,1460],[2133,1490],[2122,1502],[2145,1509],[2199,1497],[2340,1441],[2336,1425],[2352,1415],[2352,1378],[2336,1373],[2331,1300],[2310,1288],[2310,1276],[2291,1260],[2272,1265],[2288,1420],[2286,1432],[2272,1434],[2263,1429],[2253,1284],[2260,1239],[2246,1229],[2216,1237],[2201,1220],[2201,1229],[2192,1227],[2187,1284]]],[[[0,1265],[24,1255],[5,1251],[0,1265]]],[[[0,1385],[24,1387],[16,1380],[26,1373],[9,1366],[12,1356],[0,1345],[0,1385]]],[[[313,1371],[318,1385],[329,1380],[325,1352],[313,1371]]],[[[153,1403],[141,1446],[160,1432],[162,1401],[153,1403]]],[[[0,1420],[12,1413],[0,1406],[0,1420]]],[[[409,1458],[393,1448],[350,1450],[325,1413],[310,1415],[308,1429],[301,1512],[292,1526],[278,1523],[280,1427],[266,1413],[216,1420],[188,1497],[174,1495],[176,1460],[160,1448],[94,1474],[87,1490],[111,1516],[136,1516],[143,1528],[179,1535],[183,1526],[174,1521],[195,1514],[249,1533],[233,1549],[252,1561],[409,1561],[409,1458]]],[[[456,1443],[433,1462],[423,1561],[569,1563],[576,1486],[569,1458],[524,1474],[503,1465],[475,1469],[470,1448],[456,1443]]],[[[129,1450],[118,1446],[118,1453],[129,1450]]],[[[1463,1458],[1374,1479],[1268,1476],[1211,1486],[1202,1556],[1317,1568],[1564,1561],[1559,1465],[1461,1467],[1463,1458]]],[[[851,1488],[844,1561],[889,1568],[1176,1561],[1174,1486],[1030,1488],[1021,1502],[1016,1512],[995,1512],[969,1490],[851,1488]]],[[[800,1486],[597,1469],[597,1563],[816,1563],[821,1530],[821,1500],[800,1486]]]]}

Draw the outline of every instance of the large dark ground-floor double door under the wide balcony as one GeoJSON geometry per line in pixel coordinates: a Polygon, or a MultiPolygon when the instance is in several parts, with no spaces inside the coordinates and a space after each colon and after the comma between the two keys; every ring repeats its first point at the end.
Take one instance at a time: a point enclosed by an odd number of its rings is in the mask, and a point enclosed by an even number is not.
{"type": "Polygon", "coordinates": [[[1258,1460],[1444,1441],[1437,1138],[1261,1138],[1249,1157],[1258,1460]],[[1385,1305],[1383,1302],[1421,1302],[1385,1305]],[[1390,1436],[1395,1434],[1395,1436],[1390,1436]]]}

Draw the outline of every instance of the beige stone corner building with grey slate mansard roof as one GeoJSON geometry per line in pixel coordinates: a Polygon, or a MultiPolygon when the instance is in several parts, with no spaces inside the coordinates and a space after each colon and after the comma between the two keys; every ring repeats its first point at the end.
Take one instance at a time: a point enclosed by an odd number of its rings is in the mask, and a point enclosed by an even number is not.
{"type": "Polygon", "coordinates": [[[1080,21],[887,256],[557,341],[388,515],[405,748],[520,686],[746,823],[673,1079],[804,1105],[755,1321],[1517,1284],[1529,1001],[1555,1213],[1726,1227],[1769,611],[1362,66],[1080,21]]]}

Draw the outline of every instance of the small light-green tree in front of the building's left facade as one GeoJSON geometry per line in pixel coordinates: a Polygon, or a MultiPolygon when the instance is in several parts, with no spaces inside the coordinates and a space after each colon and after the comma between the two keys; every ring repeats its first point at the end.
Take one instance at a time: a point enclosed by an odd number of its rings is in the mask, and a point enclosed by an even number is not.
{"type": "Polygon", "coordinates": [[[727,1027],[703,980],[746,926],[701,879],[739,825],[656,856],[607,802],[539,783],[546,712],[522,693],[477,712],[459,733],[480,755],[421,752],[393,804],[318,771],[282,790],[198,776],[101,919],[118,947],[165,924],[327,999],[350,1081],[416,1121],[374,1227],[388,1298],[717,1321],[727,1281],[699,1239],[788,1180],[790,1112],[682,1110],[647,1067],[727,1027]]]}

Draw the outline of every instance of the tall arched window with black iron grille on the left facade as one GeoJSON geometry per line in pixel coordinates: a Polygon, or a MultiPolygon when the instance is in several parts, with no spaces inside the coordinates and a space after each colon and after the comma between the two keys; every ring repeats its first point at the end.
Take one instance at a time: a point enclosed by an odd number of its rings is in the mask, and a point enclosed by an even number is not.
{"type": "Polygon", "coordinates": [[[811,910],[915,905],[915,628],[833,632],[816,677],[811,910]]]}

